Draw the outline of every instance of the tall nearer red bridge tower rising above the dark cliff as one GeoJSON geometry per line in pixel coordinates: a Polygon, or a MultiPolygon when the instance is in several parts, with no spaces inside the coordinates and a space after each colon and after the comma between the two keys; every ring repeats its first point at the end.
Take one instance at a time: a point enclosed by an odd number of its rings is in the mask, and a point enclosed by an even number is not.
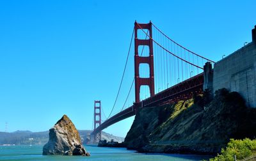
{"type": "Polygon", "coordinates": [[[153,41],[152,41],[152,23],[138,24],[134,23],[134,74],[135,74],[135,102],[140,102],[140,87],[141,85],[147,85],[150,90],[150,97],[155,95],[154,85],[154,55],[153,55],[153,41]],[[147,29],[150,38],[138,39],[138,30],[147,29]],[[148,46],[148,57],[141,57],[138,53],[140,45],[148,46]],[[149,78],[140,78],[140,64],[145,63],[149,66],[149,78]]]}

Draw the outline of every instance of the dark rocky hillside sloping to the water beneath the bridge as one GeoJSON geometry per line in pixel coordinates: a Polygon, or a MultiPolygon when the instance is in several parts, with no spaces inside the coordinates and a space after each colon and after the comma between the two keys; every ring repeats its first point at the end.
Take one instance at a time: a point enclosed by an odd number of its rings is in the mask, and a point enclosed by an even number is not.
{"type": "Polygon", "coordinates": [[[256,109],[246,108],[237,92],[218,90],[177,104],[143,108],[125,137],[127,148],[157,153],[220,152],[230,138],[256,136],[256,109]]]}

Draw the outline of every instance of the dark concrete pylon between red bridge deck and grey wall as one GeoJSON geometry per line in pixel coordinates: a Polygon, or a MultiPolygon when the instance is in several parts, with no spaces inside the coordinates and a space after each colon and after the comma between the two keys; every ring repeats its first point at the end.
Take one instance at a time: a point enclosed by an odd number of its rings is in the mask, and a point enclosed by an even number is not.
{"type": "Polygon", "coordinates": [[[204,90],[209,90],[211,94],[213,94],[213,88],[212,88],[212,83],[213,83],[213,70],[212,70],[212,64],[211,62],[206,62],[204,65],[204,90]]]}

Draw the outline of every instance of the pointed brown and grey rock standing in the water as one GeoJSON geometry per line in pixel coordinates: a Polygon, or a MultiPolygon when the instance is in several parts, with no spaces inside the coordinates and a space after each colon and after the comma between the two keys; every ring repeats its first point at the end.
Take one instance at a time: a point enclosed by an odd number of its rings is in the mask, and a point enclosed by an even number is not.
{"type": "Polygon", "coordinates": [[[67,115],[49,130],[49,141],[44,145],[43,155],[90,156],[81,143],[79,132],[67,115]]]}

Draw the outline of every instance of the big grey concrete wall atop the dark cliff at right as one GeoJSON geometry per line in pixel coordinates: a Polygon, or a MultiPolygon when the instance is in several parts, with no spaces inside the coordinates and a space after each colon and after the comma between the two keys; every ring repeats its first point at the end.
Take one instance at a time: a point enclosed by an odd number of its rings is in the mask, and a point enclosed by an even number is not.
{"type": "Polygon", "coordinates": [[[247,106],[256,108],[256,44],[250,43],[214,64],[213,91],[239,92],[247,106]]]}

